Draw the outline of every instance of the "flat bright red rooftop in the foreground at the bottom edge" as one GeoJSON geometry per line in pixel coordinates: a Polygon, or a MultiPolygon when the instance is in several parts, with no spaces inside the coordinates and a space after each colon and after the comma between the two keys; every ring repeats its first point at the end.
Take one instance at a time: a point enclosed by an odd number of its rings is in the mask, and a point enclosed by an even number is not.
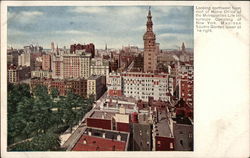
{"type": "Polygon", "coordinates": [[[124,151],[125,147],[123,141],[83,135],[72,151],[124,151]]]}

